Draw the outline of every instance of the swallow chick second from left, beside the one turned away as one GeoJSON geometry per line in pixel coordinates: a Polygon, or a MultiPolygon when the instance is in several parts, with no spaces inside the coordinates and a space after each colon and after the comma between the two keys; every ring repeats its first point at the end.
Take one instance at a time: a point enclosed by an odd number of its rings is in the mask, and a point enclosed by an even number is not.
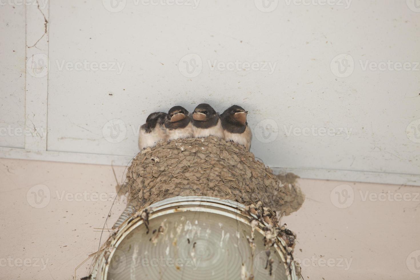
{"type": "Polygon", "coordinates": [[[174,106],[169,110],[164,125],[168,141],[192,137],[189,112],[182,106],[174,106]]]}

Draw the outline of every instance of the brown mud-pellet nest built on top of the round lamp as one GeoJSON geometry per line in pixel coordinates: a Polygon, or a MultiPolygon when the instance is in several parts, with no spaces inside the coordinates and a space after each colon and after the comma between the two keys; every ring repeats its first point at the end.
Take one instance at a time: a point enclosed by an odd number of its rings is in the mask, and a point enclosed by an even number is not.
{"type": "Polygon", "coordinates": [[[288,215],[304,197],[297,176],[281,182],[244,146],[216,137],[161,141],[136,155],[127,172],[130,203],[136,209],[173,196],[213,196],[242,204],[262,201],[288,215]]]}

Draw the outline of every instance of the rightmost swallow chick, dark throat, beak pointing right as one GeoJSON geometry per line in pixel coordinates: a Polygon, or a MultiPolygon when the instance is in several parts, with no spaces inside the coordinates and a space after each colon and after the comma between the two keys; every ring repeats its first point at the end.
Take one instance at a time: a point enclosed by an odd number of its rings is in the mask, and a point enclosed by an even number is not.
{"type": "Polygon", "coordinates": [[[252,132],[247,123],[248,111],[244,108],[233,105],[220,115],[225,140],[234,141],[244,145],[249,151],[251,147],[252,132]]]}

